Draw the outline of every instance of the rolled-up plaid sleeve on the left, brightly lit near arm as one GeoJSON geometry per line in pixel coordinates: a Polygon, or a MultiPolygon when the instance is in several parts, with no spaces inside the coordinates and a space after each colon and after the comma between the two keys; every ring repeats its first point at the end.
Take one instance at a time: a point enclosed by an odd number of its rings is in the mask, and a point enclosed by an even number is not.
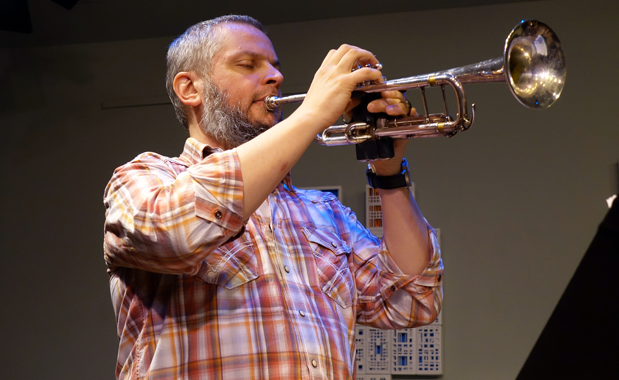
{"type": "Polygon", "coordinates": [[[144,153],[116,169],[108,183],[108,266],[195,274],[211,251],[243,228],[236,150],[213,153],[178,174],[167,160],[144,153]]]}

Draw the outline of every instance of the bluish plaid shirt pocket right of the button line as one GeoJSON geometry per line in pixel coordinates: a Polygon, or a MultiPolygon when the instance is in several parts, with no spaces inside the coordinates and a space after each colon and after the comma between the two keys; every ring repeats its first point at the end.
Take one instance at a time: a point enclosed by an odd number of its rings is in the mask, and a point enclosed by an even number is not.
{"type": "Polygon", "coordinates": [[[351,249],[335,233],[302,228],[312,249],[322,291],[342,308],[353,304],[354,281],[348,266],[351,249]]]}

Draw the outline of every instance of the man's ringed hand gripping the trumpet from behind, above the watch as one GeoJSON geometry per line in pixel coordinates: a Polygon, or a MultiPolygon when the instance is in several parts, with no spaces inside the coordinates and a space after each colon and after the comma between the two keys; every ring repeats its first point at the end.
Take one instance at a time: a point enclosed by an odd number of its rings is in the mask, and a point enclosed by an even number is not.
{"type": "MultiPolygon", "coordinates": [[[[404,101],[404,93],[399,91],[383,91],[381,92],[382,99],[376,99],[370,101],[368,104],[368,111],[372,113],[384,112],[390,116],[400,116],[400,115],[410,115],[416,116],[417,111],[415,108],[410,108],[406,101],[404,101]]],[[[351,99],[348,101],[348,105],[346,107],[347,113],[350,113],[350,110],[355,108],[360,103],[359,99],[351,99]]],[[[348,115],[350,116],[350,114],[348,115]]],[[[393,176],[397,175],[402,171],[400,163],[402,162],[402,158],[404,157],[404,152],[406,150],[406,144],[409,143],[409,140],[404,139],[394,139],[393,147],[394,147],[394,157],[391,160],[375,160],[371,161],[370,165],[379,176],[393,176]]]]}

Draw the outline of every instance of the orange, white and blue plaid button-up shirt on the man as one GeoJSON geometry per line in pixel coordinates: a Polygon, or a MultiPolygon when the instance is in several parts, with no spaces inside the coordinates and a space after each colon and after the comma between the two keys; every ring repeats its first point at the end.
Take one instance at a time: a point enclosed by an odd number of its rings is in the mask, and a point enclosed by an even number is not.
{"type": "Polygon", "coordinates": [[[236,150],[191,138],[180,157],[143,153],[115,171],[104,251],[118,379],[350,379],[355,323],[435,319],[431,228],[430,264],[404,275],[333,194],[288,175],[267,202],[244,223],[236,150]]]}

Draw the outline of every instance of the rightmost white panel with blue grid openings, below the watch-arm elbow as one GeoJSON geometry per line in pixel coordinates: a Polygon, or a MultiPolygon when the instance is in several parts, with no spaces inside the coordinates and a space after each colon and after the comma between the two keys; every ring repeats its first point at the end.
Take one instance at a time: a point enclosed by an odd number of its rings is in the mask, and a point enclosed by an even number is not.
{"type": "Polygon", "coordinates": [[[443,374],[441,326],[417,327],[417,374],[443,374]]]}

